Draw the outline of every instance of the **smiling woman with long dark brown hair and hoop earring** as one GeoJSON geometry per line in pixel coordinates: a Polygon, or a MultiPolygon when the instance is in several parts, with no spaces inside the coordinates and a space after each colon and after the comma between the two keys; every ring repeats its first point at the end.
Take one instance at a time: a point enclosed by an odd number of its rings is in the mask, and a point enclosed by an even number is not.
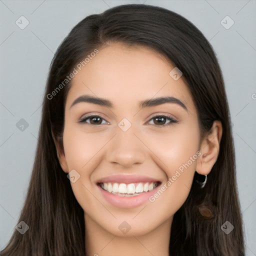
{"type": "Polygon", "coordinates": [[[244,255],[222,74],[193,24],[128,4],[70,31],[22,225],[1,255],[244,255]]]}

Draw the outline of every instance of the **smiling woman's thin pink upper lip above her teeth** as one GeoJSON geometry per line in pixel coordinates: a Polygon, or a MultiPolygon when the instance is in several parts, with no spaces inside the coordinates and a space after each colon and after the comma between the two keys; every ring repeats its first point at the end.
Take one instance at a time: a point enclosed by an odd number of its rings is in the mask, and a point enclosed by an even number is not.
{"type": "Polygon", "coordinates": [[[100,178],[97,183],[136,183],[136,182],[160,182],[156,178],[148,177],[139,174],[112,174],[103,178],[100,178]]]}

